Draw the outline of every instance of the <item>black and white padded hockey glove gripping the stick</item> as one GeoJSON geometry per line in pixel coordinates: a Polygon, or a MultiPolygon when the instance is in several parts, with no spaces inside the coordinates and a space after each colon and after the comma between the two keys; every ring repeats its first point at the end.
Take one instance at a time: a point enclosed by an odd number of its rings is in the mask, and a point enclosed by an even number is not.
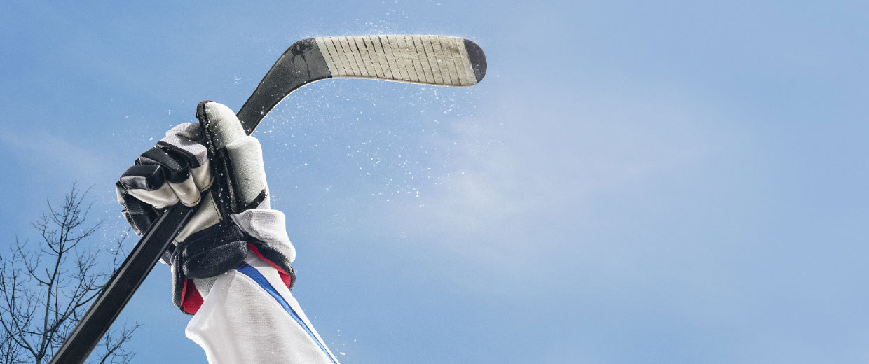
{"type": "Polygon", "coordinates": [[[172,269],[173,301],[188,314],[202,305],[217,275],[249,254],[275,267],[288,288],[295,283],[295,248],[284,215],[269,208],[259,141],[220,103],[199,103],[196,118],[166,132],[116,183],[137,235],[176,203],[199,205],[163,255],[172,269]]]}

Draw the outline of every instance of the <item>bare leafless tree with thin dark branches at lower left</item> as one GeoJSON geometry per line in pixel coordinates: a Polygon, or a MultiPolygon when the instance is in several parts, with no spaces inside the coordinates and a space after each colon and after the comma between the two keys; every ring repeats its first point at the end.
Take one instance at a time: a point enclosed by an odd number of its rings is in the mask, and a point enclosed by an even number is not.
{"type": "MultiPolygon", "coordinates": [[[[49,361],[123,261],[129,232],[107,250],[86,243],[102,226],[87,222],[87,193],[74,184],[59,206],[48,202],[48,212],[31,223],[38,242],[16,235],[10,254],[0,256],[0,364],[49,361]],[[110,270],[102,268],[107,258],[110,270]]],[[[123,345],[137,328],[109,331],[91,361],[129,363],[134,354],[123,345]]]]}

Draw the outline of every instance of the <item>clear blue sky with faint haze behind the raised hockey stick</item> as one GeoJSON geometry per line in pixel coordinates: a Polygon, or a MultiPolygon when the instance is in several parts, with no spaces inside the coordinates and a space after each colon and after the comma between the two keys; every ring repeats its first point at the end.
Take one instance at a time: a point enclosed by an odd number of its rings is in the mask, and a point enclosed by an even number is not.
{"type": "MultiPolygon", "coordinates": [[[[463,36],[488,56],[474,88],[315,83],[255,134],[294,294],[342,362],[866,362],[867,17],[4,2],[0,249],[74,181],[123,231],[117,175],[200,100],[237,109],[296,40],[463,36]]],[[[136,362],[205,362],[169,297],[157,267],[124,312],[136,362]]]]}

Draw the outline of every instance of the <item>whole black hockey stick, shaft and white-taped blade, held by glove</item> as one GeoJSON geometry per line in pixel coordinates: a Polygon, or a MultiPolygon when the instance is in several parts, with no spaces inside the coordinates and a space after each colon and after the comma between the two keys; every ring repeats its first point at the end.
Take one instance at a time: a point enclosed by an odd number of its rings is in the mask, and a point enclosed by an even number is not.
{"type": "MultiPolygon", "coordinates": [[[[478,45],[454,36],[309,38],[294,43],[278,58],[237,116],[250,135],[284,97],[307,83],[368,78],[464,87],[479,83],[486,67],[486,56],[478,45]]],[[[195,211],[179,203],[163,212],[109,278],[52,364],[80,364],[88,358],[195,211]]]]}

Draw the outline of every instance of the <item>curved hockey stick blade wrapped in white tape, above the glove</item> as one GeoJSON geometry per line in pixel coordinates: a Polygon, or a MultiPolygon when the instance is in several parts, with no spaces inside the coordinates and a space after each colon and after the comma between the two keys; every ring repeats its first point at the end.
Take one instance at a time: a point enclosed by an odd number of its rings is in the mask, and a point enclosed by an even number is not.
{"type": "Polygon", "coordinates": [[[262,77],[238,118],[250,135],[286,96],[327,78],[467,87],[486,76],[480,46],[455,36],[322,36],[303,39],[262,77]]]}

